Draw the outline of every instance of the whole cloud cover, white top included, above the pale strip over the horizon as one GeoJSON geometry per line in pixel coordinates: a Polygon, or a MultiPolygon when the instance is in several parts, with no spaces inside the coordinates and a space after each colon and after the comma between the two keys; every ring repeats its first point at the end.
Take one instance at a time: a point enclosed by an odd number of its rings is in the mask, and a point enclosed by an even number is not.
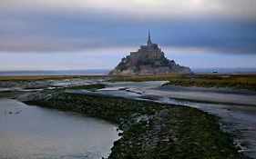
{"type": "Polygon", "coordinates": [[[256,54],[254,0],[2,0],[0,51],[70,52],[146,42],[256,54]]]}

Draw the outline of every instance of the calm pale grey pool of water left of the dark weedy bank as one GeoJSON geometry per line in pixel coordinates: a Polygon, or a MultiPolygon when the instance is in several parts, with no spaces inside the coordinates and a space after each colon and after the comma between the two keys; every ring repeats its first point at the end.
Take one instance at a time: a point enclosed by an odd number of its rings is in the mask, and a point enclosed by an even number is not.
{"type": "Polygon", "coordinates": [[[98,159],[116,140],[114,124],[0,99],[0,158],[98,159]]]}

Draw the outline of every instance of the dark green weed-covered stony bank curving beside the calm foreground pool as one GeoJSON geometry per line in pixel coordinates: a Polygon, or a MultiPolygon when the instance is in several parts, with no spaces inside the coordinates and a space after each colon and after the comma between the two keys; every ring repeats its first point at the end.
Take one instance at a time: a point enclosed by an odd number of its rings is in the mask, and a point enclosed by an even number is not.
{"type": "Polygon", "coordinates": [[[87,114],[118,124],[108,158],[241,158],[218,117],[183,105],[48,90],[26,104],[87,114]]]}

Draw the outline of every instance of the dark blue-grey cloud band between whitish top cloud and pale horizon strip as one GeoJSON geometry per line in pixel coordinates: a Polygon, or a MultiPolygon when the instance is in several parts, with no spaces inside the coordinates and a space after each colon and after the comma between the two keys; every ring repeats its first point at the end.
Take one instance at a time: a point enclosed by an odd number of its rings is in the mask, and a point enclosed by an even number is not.
{"type": "Polygon", "coordinates": [[[132,19],[102,12],[0,11],[0,50],[77,51],[145,43],[148,29],[162,46],[256,54],[256,21],[220,18],[132,19]]]}

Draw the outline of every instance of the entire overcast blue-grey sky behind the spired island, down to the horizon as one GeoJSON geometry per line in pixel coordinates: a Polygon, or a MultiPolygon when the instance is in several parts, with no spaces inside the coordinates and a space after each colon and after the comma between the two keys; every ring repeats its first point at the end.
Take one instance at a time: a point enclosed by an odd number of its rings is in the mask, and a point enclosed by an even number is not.
{"type": "Polygon", "coordinates": [[[0,0],[0,70],[111,69],[147,41],[190,67],[256,67],[256,0],[0,0]]]}

